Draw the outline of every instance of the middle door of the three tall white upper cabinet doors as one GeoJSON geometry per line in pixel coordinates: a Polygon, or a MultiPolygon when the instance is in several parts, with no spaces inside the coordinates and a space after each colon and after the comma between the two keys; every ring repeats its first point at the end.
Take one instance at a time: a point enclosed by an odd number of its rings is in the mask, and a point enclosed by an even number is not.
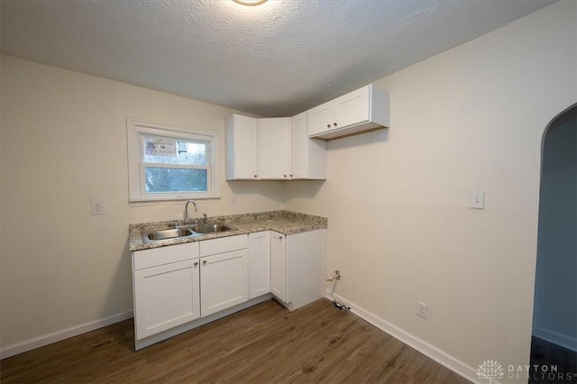
{"type": "Polygon", "coordinates": [[[260,179],[289,178],[289,118],[258,119],[260,179]]]}

